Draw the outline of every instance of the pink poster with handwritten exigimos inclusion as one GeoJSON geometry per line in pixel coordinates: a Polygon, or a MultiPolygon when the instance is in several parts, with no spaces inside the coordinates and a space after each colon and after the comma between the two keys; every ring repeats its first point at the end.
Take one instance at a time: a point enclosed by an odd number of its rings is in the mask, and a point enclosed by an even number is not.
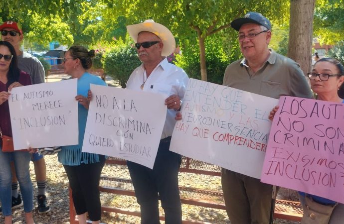
{"type": "Polygon", "coordinates": [[[261,181],[344,203],[344,104],[281,97],[261,181]]]}

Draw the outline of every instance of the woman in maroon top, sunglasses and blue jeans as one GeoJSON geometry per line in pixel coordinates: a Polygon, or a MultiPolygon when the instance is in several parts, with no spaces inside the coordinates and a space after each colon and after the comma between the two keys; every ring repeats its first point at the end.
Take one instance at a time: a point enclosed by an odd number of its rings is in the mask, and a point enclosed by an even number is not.
{"type": "MultiPolygon", "coordinates": [[[[8,98],[12,88],[31,85],[30,76],[18,69],[17,57],[13,46],[7,41],[0,41],[0,128],[2,135],[12,136],[8,98]]],[[[0,138],[0,149],[2,139],[0,138]]],[[[14,161],[15,173],[24,203],[26,224],[34,224],[32,218],[32,183],[29,172],[31,155],[27,151],[2,152],[0,150],[0,199],[4,223],[12,223],[10,162],[14,161]]]]}

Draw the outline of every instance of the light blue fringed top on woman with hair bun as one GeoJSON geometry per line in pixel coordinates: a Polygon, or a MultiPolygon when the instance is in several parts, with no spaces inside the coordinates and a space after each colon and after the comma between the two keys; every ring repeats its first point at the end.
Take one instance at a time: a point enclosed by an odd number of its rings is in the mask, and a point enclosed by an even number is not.
{"type": "MultiPolygon", "coordinates": [[[[78,95],[87,97],[90,84],[106,86],[106,83],[102,79],[86,72],[78,79],[78,95]]],[[[99,162],[98,154],[81,152],[82,143],[84,141],[87,113],[88,110],[86,110],[81,104],[78,104],[79,144],[61,147],[62,150],[58,152],[58,161],[63,165],[78,166],[81,163],[89,164],[99,162]]]]}

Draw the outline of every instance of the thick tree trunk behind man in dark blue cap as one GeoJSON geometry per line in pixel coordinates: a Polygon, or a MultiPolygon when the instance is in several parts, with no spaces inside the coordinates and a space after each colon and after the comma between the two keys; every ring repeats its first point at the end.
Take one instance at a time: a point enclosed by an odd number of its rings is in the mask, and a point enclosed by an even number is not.
{"type": "Polygon", "coordinates": [[[290,0],[288,57],[311,71],[313,13],[316,0],[290,0]]]}

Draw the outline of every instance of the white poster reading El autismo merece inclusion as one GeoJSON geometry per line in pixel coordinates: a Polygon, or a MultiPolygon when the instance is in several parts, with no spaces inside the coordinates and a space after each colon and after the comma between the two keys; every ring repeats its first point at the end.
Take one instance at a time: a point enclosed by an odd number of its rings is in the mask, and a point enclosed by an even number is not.
{"type": "Polygon", "coordinates": [[[14,149],[78,144],[77,80],[13,88],[8,99],[14,149]]]}

